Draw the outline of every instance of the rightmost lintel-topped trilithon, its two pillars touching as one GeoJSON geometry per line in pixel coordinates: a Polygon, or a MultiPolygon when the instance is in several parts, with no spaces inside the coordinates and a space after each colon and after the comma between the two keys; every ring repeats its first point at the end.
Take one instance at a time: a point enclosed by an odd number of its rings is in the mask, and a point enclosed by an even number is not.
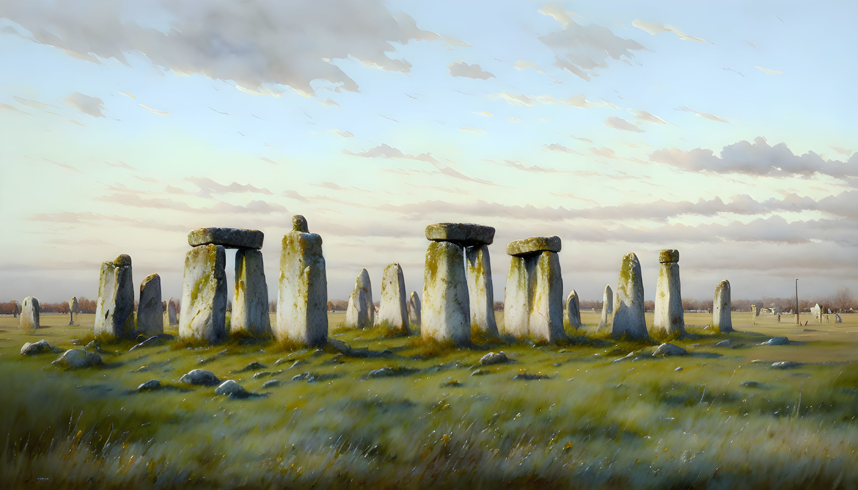
{"type": "Polygon", "coordinates": [[[510,242],[511,255],[504,299],[504,335],[533,336],[555,342],[563,330],[563,279],[559,237],[533,237],[510,242]]]}

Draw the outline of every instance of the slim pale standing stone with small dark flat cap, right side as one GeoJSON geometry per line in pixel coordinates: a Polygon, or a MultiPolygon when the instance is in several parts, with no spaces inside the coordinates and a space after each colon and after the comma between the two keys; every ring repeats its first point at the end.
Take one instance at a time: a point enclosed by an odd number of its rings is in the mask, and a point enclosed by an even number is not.
{"type": "Polygon", "coordinates": [[[650,333],[660,337],[685,335],[686,319],[680,290],[680,251],[662,250],[658,254],[658,262],[656,312],[650,333]]]}

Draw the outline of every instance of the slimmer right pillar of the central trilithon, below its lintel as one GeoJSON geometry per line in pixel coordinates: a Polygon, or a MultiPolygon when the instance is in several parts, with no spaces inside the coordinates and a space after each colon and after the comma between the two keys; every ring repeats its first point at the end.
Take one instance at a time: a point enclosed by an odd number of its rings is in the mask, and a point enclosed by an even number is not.
{"type": "MultiPolygon", "coordinates": [[[[492,235],[494,228],[492,228],[492,235]]],[[[497,337],[498,324],[494,319],[494,286],[492,285],[492,260],[488,245],[465,248],[465,275],[468,277],[468,299],[470,299],[471,330],[497,337]]]]}

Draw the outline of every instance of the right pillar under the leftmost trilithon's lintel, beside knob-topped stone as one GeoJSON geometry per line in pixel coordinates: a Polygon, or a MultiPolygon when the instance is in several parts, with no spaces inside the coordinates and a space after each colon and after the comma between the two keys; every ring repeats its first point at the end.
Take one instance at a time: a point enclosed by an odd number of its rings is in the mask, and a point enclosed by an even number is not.
{"type": "Polygon", "coordinates": [[[242,248],[235,252],[235,292],[230,332],[255,337],[272,335],[269,318],[268,285],[263,269],[263,252],[242,248]]]}

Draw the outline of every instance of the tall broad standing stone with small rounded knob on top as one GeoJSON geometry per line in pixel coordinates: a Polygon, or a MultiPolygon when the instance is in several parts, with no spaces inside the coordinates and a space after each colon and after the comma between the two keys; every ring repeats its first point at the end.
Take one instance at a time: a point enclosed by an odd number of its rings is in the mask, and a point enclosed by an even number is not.
{"type": "Polygon", "coordinates": [[[328,278],[322,237],[309,233],[304,216],[292,218],[283,236],[275,336],[305,345],[328,342],[328,278]]]}

